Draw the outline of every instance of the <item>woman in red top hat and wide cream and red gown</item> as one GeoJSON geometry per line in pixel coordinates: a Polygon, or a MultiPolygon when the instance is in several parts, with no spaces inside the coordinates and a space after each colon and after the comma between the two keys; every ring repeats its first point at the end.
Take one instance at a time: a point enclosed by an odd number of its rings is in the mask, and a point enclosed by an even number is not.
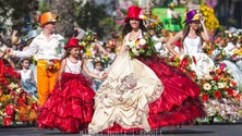
{"type": "Polygon", "coordinates": [[[131,58],[126,45],[146,30],[142,9],[129,8],[120,53],[95,96],[88,133],[125,133],[178,125],[204,116],[199,87],[158,59],[131,58]]]}

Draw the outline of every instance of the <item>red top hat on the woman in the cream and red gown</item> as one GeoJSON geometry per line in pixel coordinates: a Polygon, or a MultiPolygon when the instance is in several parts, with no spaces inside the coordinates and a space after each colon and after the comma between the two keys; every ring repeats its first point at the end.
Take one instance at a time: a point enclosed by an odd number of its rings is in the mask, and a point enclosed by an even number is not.
{"type": "Polygon", "coordinates": [[[142,20],[142,9],[140,7],[130,7],[128,10],[128,16],[124,18],[124,22],[128,22],[130,18],[142,20]]]}

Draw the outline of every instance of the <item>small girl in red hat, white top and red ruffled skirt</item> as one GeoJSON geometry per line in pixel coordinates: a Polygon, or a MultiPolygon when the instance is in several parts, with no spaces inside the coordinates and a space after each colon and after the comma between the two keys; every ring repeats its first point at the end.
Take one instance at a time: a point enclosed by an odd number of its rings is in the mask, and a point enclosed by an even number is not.
{"type": "Polygon", "coordinates": [[[94,112],[95,92],[83,71],[95,78],[102,79],[88,71],[80,60],[83,47],[78,39],[71,38],[65,46],[61,60],[58,82],[48,100],[40,107],[37,119],[41,128],[59,128],[62,132],[78,133],[86,131],[94,112]]]}

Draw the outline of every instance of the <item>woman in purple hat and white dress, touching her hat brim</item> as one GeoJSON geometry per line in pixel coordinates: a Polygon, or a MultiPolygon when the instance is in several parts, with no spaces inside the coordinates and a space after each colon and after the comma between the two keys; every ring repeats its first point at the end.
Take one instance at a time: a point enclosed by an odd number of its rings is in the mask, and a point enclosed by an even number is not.
{"type": "Polygon", "coordinates": [[[202,45],[204,40],[209,40],[204,16],[202,16],[199,11],[192,10],[186,13],[185,28],[167,42],[167,48],[171,53],[180,58],[183,58],[185,54],[194,58],[195,60],[193,59],[191,69],[198,77],[203,77],[214,69],[214,61],[203,53],[202,45]],[[199,29],[199,25],[202,25],[203,29],[199,29]],[[183,42],[183,46],[181,51],[177,52],[172,45],[179,40],[183,42]]]}

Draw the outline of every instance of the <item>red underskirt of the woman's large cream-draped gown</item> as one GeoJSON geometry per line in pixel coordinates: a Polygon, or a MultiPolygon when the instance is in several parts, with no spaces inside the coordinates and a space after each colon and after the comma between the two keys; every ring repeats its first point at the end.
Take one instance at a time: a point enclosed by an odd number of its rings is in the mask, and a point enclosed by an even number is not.
{"type": "MultiPolygon", "coordinates": [[[[164,85],[161,97],[149,103],[148,123],[152,129],[162,126],[193,123],[194,119],[206,116],[199,100],[201,88],[178,67],[170,66],[158,57],[138,58],[149,66],[164,85]]],[[[114,124],[102,133],[135,132],[140,128],[122,128],[114,124]]]]}

